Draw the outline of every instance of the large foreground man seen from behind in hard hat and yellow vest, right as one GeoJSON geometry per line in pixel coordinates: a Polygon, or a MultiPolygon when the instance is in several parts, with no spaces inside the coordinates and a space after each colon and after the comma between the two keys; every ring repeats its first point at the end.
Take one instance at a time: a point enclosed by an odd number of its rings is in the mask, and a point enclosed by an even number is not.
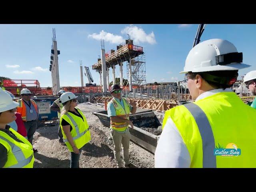
{"type": "Polygon", "coordinates": [[[256,167],[256,110],[232,92],[242,53],[211,39],[190,50],[184,67],[195,102],[165,112],[156,168],[256,167]]]}

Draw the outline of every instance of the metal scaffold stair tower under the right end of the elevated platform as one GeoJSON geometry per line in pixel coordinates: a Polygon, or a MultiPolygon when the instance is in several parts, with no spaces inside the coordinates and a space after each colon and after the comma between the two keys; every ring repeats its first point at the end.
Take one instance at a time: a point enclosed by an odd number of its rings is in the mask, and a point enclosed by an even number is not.
{"type": "MultiPolygon", "coordinates": [[[[127,76],[129,76],[129,62],[126,62],[127,76]]],[[[132,85],[146,85],[146,59],[145,53],[132,58],[132,85]]]]}

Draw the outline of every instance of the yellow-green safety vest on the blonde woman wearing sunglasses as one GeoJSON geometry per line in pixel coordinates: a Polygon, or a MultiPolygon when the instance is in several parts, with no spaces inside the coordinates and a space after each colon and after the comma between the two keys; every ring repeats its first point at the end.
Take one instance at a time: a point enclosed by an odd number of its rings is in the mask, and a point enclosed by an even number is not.
{"type": "Polygon", "coordinates": [[[91,140],[91,134],[89,131],[89,125],[86,121],[86,117],[84,116],[82,111],[80,111],[80,109],[78,109],[78,108],[76,108],[76,109],[82,115],[84,121],[80,117],[78,117],[70,112],[67,112],[66,114],[64,114],[60,117],[60,128],[61,128],[61,131],[63,134],[63,140],[64,140],[66,146],[68,147],[68,149],[70,150],[70,152],[74,152],[74,150],[72,148],[73,146],[71,146],[70,143],[68,142],[67,136],[63,131],[63,128],[61,125],[61,122],[63,119],[66,120],[66,122],[68,122],[70,124],[70,126],[72,127],[70,134],[71,134],[71,136],[74,140],[74,143],[78,149],[82,148],[82,146],[84,146],[86,143],[88,143],[91,140]]]}

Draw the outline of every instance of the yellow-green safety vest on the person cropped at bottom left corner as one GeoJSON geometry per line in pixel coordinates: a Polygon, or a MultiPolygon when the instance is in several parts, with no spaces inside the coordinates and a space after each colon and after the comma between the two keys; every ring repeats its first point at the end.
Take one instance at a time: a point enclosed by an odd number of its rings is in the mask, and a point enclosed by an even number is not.
{"type": "Polygon", "coordinates": [[[7,149],[4,168],[33,168],[35,159],[32,144],[12,128],[9,130],[23,143],[0,131],[0,143],[7,149]]]}

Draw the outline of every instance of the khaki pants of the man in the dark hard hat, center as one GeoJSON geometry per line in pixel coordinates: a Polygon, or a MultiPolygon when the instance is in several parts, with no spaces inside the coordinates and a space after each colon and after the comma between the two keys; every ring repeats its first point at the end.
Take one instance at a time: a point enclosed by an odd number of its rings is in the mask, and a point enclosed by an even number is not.
{"type": "Polygon", "coordinates": [[[116,164],[118,168],[122,167],[121,161],[121,144],[123,147],[123,158],[124,158],[124,165],[130,164],[129,159],[129,144],[130,144],[130,132],[129,128],[126,129],[126,132],[118,132],[116,130],[111,129],[110,135],[114,142],[114,156],[116,160],[116,164]]]}

